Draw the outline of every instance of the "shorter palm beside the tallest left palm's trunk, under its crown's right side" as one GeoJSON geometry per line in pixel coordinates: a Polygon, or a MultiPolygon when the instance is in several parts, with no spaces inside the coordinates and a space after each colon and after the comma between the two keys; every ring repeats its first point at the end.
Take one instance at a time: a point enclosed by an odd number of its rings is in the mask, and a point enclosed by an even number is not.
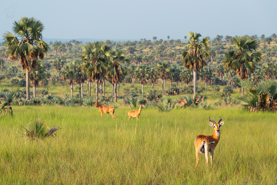
{"type": "MultiPolygon", "coordinates": [[[[39,81],[46,77],[46,67],[43,65],[41,60],[37,61],[36,70],[29,71],[31,85],[33,87],[33,96],[36,97],[36,86],[38,86],[39,81]]],[[[26,74],[25,74],[26,75],[26,74]]]]}

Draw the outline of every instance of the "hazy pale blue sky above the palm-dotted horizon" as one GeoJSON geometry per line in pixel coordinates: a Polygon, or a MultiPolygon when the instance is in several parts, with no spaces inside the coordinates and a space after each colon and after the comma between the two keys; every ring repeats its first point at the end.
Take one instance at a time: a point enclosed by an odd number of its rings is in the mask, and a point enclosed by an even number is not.
{"type": "Polygon", "coordinates": [[[43,22],[43,37],[59,39],[184,39],[190,32],[216,35],[277,34],[276,0],[102,0],[0,2],[0,34],[21,17],[43,22]],[[17,3],[13,18],[6,13],[17,3]]]}

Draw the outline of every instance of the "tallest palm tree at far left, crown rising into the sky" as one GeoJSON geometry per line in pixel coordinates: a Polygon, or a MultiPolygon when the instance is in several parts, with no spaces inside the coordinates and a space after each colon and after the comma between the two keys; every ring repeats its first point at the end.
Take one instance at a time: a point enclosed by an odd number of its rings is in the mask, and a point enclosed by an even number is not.
{"type": "Polygon", "coordinates": [[[38,58],[43,59],[48,51],[48,44],[42,39],[44,26],[40,20],[22,17],[13,23],[14,35],[3,34],[4,45],[8,48],[6,55],[12,60],[18,60],[22,69],[26,70],[26,99],[30,100],[29,71],[36,69],[38,58]]]}

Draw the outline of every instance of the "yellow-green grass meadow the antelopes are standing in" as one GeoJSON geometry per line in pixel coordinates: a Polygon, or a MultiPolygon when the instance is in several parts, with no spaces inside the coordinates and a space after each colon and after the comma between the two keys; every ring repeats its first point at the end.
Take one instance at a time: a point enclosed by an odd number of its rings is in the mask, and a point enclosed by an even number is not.
{"type": "Polygon", "coordinates": [[[1,184],[276,184],[276,113],[237,108],[142,109],[127,121],[128,108],[100,117],[93,107],[13,106],[0,120],[1,184]],[[210,135],[208,117],[225,121],[213,166],[194,139],[210,135]],[[37,117],[59,126],[56,139],[33,141],[17,132],[37,117]]]}

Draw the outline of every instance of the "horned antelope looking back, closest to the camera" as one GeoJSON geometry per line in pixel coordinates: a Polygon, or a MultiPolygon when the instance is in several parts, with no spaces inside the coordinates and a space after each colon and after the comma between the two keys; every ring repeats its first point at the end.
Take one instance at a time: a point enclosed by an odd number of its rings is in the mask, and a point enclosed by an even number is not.
{"type": "MultiPolygon", "coordinates": [[[[220,116],[219,116],[220,118],[220,116]]],[[[211,152],[211,164],[213,164],[213,151],[215,150],[215,146],[218,144],[220,139],[220,127],[224,124],[224,121],[219,123],[222,119],[215,123],[215,121],[211,120],[209,117],[209,125],[213,127],[213,135],[198,135],[194,141],[195,146],[195,155],[196,155],[196,166],[199,161],[199,152],[205,153],[206,164],[209,163],[209,152],[211,152]]]]}

